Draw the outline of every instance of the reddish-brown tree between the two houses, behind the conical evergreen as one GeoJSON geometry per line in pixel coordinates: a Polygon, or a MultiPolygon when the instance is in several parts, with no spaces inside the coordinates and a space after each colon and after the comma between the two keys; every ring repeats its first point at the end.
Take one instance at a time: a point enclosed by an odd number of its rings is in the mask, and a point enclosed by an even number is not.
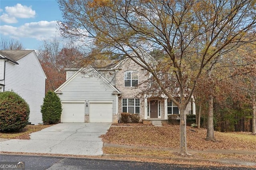
{"type": "Polygon", "coordinates": [[[37,51],[37,56],[47,77],[46,91],[54,91],[64,83],[66,81],[64,69],[76,68],[82,58],[82,54],[74,44],[62,45],[56,38],[44,40],[37,51]]]}

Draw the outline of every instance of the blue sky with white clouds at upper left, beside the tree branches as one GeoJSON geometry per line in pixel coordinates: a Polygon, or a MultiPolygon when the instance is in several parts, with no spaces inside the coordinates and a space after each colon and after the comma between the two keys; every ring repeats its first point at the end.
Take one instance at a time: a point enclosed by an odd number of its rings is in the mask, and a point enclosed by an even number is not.
{"type": "Polygon", "coordinates": [[[56,0],[0,0],[0,38],[18,40],[25,49],[38,49],[43,40],[59,38],[60,20],[56,0]]]}

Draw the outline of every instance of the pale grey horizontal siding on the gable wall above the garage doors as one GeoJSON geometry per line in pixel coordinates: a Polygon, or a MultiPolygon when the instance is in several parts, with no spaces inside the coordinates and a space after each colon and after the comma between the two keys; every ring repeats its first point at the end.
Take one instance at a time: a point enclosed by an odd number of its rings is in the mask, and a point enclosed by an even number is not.
{"type": "MultiPolygon", "coordinates": [[[[59,94],[59,97],[62,102],[86,101],[89,104],[92,101],[112,101],[113,114],[116,114],[116,95],[112,94],[113,89],[99,77],[89,77],[84,73],[79,73],[61,91],[62,94],[59,94]]],[[[85,114],[89,114],[89,108],[89,105],[85,107],[85,114]]]]}

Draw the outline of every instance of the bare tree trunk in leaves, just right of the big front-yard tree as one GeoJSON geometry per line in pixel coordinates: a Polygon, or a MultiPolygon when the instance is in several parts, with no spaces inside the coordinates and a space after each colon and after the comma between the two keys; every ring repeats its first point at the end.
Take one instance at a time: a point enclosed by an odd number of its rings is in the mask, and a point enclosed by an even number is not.
{"type": "Polygon", "coordinates": [[[208,100],[209,111],[208,111],[208,120],[207,120],[207,135],[206,140],[215,141],[214,138],[214,124],[213,124],[213,96],[210,96],[208,100]]]}

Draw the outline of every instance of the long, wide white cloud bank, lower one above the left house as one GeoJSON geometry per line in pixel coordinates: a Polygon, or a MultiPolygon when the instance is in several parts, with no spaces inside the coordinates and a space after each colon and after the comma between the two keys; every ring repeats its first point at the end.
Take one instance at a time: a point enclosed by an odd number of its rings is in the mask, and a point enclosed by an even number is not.
{"type": "Polygon", "coordinates": [[[1,34],[12,38],[35,38],[36,40],[47,40],[58,37],[56,32],[57,21],[30,22],[19,27],[0,26],[1,34]]]}

